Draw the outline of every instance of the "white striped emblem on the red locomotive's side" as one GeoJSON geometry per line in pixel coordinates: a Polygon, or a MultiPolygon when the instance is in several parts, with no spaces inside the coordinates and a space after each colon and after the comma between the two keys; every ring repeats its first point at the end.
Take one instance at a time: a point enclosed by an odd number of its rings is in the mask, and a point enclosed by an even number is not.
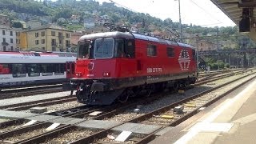
{"type": "Polygon", "coordinates": [[[187,50],[181,50],[178,56],[178,63],[182,70],[189,70],[190,54],[187,50]]]}

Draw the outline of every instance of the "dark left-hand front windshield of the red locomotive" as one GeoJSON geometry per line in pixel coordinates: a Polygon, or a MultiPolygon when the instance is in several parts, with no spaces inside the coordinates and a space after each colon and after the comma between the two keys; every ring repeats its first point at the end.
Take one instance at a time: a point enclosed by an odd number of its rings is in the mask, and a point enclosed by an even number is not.
{"type": "Polygon", "coordinates": [[[90,54],[90,41],[78,43],[78,58],[89,58],[90,54]]]}

